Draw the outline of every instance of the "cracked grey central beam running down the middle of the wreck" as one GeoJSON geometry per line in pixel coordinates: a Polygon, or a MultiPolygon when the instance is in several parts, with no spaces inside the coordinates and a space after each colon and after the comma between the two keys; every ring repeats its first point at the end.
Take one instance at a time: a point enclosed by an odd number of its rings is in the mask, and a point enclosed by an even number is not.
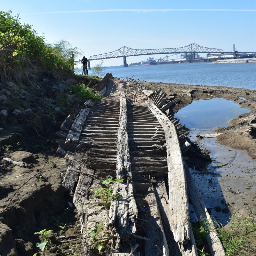
{"type": "MultiPolygon", "coordinates": [[[[116,228],[115,249],[121,249],[125,241],[129,240],[132,234],[136,233],[136,220],[138,209],[133,196],[133,187],[129,181],[131,175],[131,163],[128,147],[126,99],[124,93],[120,95],[120,118],[117,135],[116,153],[116,178],[125,179],[112,185],[113,195],[119,193],[121,197],[111,201],[109,209],[108,225],[116,228]]],[[[125,246],[124,246],[125,247],[125,246]]]]}

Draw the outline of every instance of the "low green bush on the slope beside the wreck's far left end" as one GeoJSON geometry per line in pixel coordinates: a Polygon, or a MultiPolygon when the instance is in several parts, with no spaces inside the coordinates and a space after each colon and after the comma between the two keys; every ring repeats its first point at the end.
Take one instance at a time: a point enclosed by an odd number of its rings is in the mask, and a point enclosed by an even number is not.
{"type": "Polygon", "coordinates": [[[91,81],[88,85],[85,85],[83,83],[78,84],[71,84],[70,88],[72,93],[76,94],[76,97],[81,101],[84,102],[86,100],[93,100],[95,102],[100,101],[103,98],[103,95],[99,92],[93,92],[92,89],[89,88],[91,81]]]}

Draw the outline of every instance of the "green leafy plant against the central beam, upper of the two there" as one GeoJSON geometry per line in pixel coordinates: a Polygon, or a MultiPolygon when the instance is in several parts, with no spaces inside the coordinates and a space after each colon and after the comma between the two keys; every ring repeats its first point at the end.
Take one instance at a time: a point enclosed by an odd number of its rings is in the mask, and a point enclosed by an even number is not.
{"type": "Polygon", "coordinates": [[[119,193],[113,195],[113,188],[111,188],[112,184],[115,182],[122,182],[124,179],[116,179],[113,180],[112,178],[103,180],[102,184],[105,185],[107,188],[99,188],[94,192],[94,196],[95,197],[99,197],[101,199],[103,199],[105,201],[104,205],[106,206],[106,208],[109,208],[111,205],[111,200],[112,199],[117,199],[119,198],[121,195],[119,193]]]}

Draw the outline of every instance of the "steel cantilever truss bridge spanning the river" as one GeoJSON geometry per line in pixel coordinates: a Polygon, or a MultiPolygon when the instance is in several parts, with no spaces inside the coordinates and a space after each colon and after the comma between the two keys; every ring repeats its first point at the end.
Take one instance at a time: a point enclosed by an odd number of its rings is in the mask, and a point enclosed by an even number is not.
{"type": "Polygon", "coordinates": [[[168,54],[168,53],[191,53],[192,58],[195,58],[196,53],[225,53],[222,49],[204,47],[198,44],[189,44],[184,47],[178,48],[160,48],[160,49],[132,49],[126,46],[121,47],[120,49],[102,53],[98,55],[92,55],[88,59],[88,68],[90,67],[90,60],[104,60],[104,59],[113,59],[113,58],[123,58],[124,67],[127,67],[126,57],[131,56],[140,56],[140,55],[152,55],[152,54],[168,54]]]}

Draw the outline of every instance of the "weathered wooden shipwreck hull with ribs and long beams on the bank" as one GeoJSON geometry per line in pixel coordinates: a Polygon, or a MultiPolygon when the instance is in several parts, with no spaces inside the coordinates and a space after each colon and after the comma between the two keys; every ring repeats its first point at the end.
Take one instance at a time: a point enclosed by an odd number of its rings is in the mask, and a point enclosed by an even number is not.
{"type": "Polygon", "coordinates": [[[150,92],[133,79],[109,80],[111,93],[86,103],[70,131],[63,129],[66,140],[59,140],[58,152],[71,161],[63,185],[79,212],[85,255],[197,255],[190,199],[197,218],[207,220],[212,255],[224,256],[182,158],[188,131],[168,114],[173,102],[160,88],[150,92]],[[111,186],[118,196],[106,204],[93,195],[109,188],[102,181],[110,177],[119,179],[111,186]]]}

